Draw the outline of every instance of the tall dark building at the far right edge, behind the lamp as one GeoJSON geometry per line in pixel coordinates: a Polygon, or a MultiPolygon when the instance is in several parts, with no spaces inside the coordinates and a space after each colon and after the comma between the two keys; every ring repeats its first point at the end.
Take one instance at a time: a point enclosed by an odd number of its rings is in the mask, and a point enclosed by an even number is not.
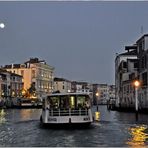
{"type": "Polygon", "coordinates": [[[141,82],[138,91],[139,108],[148,109],[148,34],[144,34],[136,43],[139,59],[138,74],[141,82]]]}

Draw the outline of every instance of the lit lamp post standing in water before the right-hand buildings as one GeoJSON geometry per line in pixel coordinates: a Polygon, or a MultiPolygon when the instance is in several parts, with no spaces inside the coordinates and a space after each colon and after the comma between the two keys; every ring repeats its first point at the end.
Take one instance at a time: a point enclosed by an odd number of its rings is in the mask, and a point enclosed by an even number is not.
{"type": "Polygon", "coordinates": [[[140,86],[140,82],[138,80],[135,80],[134,86],[135,86],[135,111],[136,111],[136,120],[138,120],[138,88],[140,86]]]}

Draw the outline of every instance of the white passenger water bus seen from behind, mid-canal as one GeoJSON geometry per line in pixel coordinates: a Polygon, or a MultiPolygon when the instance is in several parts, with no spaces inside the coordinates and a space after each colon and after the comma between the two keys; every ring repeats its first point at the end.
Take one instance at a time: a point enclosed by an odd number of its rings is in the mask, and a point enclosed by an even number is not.
{"type": "Polygon", "coordinates": [[[90,125],[93,121],[88,93],[55,93],[43,98],[43,125],[90,125]]]}

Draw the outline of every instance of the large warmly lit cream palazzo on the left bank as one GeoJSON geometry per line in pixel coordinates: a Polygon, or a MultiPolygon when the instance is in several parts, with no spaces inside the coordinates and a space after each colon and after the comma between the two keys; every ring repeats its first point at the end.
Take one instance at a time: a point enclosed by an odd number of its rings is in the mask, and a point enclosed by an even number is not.
{"type": "Polygon", "coordinates": [[[3,68],[23,77],[22,93],[27,94],[26,97],[42,98],[44,94],[53,91],[54,67],[44,60],[31,58],[23,64],[5,65],[3,68]],[[33,93],[28,93],[29,90],[33,93]]]}

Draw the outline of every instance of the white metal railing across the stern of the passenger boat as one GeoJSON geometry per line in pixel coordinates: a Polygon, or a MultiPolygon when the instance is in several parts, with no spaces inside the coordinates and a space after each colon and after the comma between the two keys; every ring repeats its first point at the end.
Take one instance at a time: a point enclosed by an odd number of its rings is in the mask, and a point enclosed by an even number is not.
{"type": "Polygon", "coordinates": [[[85,116],[85,115],[88,115],[88,108],[49,109],[49,116],[85,116]]]}

